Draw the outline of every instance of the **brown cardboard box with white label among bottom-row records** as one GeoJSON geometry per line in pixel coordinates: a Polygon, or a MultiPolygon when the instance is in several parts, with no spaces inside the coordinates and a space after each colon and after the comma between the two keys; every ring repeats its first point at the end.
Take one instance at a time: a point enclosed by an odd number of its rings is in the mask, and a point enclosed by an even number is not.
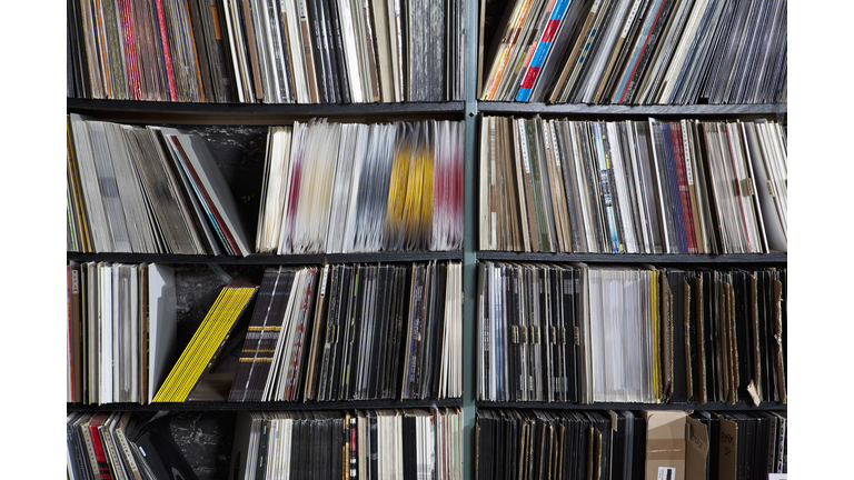
{"type": "Polygon", "coordinates": [[[676,469],[673,480],[685,480],[684,411],[644,411],[646,419],[646,480],[656,480],[659,467],[676,469]]]}

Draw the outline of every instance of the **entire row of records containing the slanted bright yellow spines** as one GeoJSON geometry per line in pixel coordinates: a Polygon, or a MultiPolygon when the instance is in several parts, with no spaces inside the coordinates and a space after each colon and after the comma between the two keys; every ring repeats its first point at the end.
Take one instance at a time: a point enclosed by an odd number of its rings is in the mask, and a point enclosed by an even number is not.
{"type": "Polygon", "coordinates": [[[240,277],[222,288],[177,360],[175,274],[153,263],[68,266],[69,402],[461,396],[459,262],[278,267],[260,281],[240,277]],[[201,387],[215,377],[230,392],[201,387]]]}

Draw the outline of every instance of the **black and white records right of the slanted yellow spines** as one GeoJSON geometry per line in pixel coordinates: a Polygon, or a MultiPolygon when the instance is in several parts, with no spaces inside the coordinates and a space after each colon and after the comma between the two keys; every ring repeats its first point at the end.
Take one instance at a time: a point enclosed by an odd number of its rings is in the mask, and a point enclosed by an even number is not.
{"type": "Polygon", "coordinates": [[[459,262],[265,272],[229,401],[461,396],[459,262]]]}

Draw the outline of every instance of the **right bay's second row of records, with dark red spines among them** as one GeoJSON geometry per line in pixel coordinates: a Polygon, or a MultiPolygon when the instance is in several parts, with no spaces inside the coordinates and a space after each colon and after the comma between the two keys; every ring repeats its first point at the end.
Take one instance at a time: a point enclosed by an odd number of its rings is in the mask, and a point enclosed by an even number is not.
{"type": "Polygon", "coordinates": [[[787,250],[777,122],[485,117],[481,250],[787,250]]]}

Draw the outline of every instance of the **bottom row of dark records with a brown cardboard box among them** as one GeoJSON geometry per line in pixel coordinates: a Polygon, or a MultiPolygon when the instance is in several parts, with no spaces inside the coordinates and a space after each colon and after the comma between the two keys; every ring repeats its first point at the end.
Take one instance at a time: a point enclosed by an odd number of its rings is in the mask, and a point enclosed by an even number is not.
{"type": "Polygon", "coordinates": [[[478,409],[477,480],[768,480],[785,411],[478,409]]]}

